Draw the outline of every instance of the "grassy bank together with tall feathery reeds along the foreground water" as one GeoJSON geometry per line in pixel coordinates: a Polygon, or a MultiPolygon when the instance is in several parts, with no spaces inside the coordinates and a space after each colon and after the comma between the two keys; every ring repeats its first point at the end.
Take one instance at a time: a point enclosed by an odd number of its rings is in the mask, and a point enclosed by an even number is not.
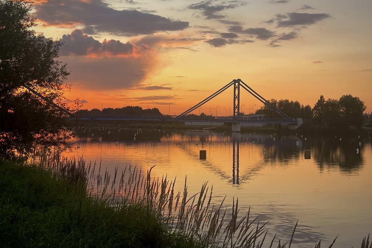
{"type": "MultiPolygon", "coordinates": [[[[206,183],[190,196],[186,179],[184,191],[175,192],[174,181],[151,177],[151,169],[127,166],[110,175],[82,158],[41,150],[27,162],[0,160],[0,246],[295,246],[297,223],[286,242],[268,238],[266,223],[238,214],[238,199],[232,209],[214,205],[206,183]]],[[[362,248],[371,247],[368,235],[362,248]]]]}

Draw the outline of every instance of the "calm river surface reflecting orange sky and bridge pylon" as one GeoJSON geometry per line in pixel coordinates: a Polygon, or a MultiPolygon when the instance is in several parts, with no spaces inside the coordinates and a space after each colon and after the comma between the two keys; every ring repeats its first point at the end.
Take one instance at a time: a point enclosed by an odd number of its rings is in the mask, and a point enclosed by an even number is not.
{"type": "Polygon", "coordinates": [[[338,234],[336,247],[357,247],[372,232],[370,134],[335,138],[102,127],[80,127],[76,133],[73,146],[79,149],[67,156],[102,161],[111,172],[129,164],[144,171],[156,165],[152,175],[177,177],[177,191],[183,191],[187,175],[190,195],[208,181],[215,203],[227,196],[225,207],[231,208],[238,197],[241,213],[251,207],[260,222],[270,221],[270,236],[289,241],[299,219],[296,247],[320,239],[328,247],[338,234]],[[199,160],[201,149],[206,160],[199,160]],[[311,159],[304,158],[305,150],[311,159]]]}

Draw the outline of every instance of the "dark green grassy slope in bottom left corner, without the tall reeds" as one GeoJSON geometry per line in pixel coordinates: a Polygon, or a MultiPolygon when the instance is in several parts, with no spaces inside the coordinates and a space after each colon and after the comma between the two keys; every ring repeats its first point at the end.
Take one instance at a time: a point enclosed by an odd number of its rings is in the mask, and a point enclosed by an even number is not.
{"type": "Polygon", "coordinates": [[[36,166],[0,162],[0,247],[197,247],[143,204],[109,206],[36,166]]]}

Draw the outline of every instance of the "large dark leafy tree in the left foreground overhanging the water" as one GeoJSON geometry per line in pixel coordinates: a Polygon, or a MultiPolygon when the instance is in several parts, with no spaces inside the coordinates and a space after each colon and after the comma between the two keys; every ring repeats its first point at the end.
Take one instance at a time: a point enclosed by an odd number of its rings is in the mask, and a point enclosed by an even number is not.
{"type": "Polygon", "coordinates": [[[36,34],[30,11],[28,1],[0,0],[1,157],[27,155],[34,144],[66,145],[71,132],[62,108],[73,112],[79,105],[63,102],[69,73],[57,60],[61,42],[36,34]]]}

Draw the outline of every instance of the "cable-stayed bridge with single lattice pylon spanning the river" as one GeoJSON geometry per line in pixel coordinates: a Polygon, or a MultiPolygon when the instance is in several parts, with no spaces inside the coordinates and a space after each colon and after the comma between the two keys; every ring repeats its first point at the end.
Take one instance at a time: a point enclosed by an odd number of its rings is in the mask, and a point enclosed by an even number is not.
{"type": "MultiPolygon", "coordinates": [[[[57,104],[50,102],[48,99],[45,99],[41,94],[33,90],[32,88],[25,86],[28,90],[33,92],[34,94],[38,95],[42,99],[46,100],[48,103],[53,104],[54,106],[62,109],[57,104]]],[[[64,109],[62,109],[64,110],[64,109]]],[[[223,123],[232,123],[232,131],[240,132],[240,123],[275,123],[275,124],[287,124],[293,125],[298,127],[301,123],[298,123],[297,120],[289,117],[284,112],[279,110],[277,107],[273,106],[269,101],[264,99],[260,94],[258,94],[255,90],[249,87],[246,83],[244,83],[240,78],[232,80],[230,83],[226,84],[224,87],[217,90],[215,93],[211,94],[198,104],[195,104],[190,109],[186,110],[185,112],[181,113],[180,115],[126,115],[126,114],[72,114],[69,113],[67,110],[64,112],[68,113],[71,117],[70,119],[81,119],[81,120],[137,120],[137,121],[166,121],[166,122],[223,122],[223,123]],[[203,104],[207,103],[209,100],[213,99],[214,97],[218,96],[225,90],[230,87],[234,87],[234,114],[232,116],[195,116],[195,115],[188,115],[193,110],[198,109],[203,104]],[[252,96],[254,96],[257,100],[261,103],[272,109],[275,113],[277,113],[280,118],[267,118],[261,117],[257,118],[254,116],[241,116],[240,115],[240,90],[246,90],[252,96]]]]}

